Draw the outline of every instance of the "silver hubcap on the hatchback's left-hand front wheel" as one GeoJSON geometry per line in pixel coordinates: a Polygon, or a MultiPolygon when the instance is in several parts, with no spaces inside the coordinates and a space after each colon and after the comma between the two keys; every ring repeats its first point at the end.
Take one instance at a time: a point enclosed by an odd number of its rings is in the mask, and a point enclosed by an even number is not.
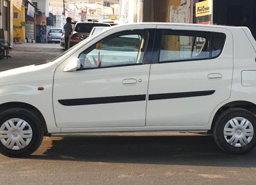
{"type": "Polygon", "coordinates": [[[32,135],[28,122],[19,118],[7,120],[0,127],[0,141],[11,150],[20,150],[28,146],[32,135]]]}

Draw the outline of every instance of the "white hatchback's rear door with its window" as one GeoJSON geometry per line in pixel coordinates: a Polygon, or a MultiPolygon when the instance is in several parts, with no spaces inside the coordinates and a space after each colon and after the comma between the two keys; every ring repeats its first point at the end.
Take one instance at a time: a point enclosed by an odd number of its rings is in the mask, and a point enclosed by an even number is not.
{"type": "Polygon", "coordinates": [[[146,126],[207,125],[230,96],[232,44],[226,29],[158,25],[146,126]]]}

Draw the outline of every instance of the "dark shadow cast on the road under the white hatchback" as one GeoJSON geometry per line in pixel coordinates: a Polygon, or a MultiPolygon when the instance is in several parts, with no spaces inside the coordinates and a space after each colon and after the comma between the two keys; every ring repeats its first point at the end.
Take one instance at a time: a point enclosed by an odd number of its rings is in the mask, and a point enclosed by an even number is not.
{"type": "Polygon", "coordinates": [[[42,154],[35,153],[28,158],[104,163],[256,167],[256,149],[244,155],[227,154],[217,147],[213,137],[205,135],[88,135],[58,137],[58,140],[53,138],[51,142],[52,146],[46,146],[48,149],[42,154]]]}

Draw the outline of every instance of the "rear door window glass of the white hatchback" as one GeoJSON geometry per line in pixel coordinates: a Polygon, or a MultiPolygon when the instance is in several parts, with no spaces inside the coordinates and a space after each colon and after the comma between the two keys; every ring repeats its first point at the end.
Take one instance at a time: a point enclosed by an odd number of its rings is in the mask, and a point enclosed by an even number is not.
{"type": "Polygon", "coordinates": [[[226,35],[203,31],[161,32],[159,62],[203,60],[218,57],[226,35]]]}

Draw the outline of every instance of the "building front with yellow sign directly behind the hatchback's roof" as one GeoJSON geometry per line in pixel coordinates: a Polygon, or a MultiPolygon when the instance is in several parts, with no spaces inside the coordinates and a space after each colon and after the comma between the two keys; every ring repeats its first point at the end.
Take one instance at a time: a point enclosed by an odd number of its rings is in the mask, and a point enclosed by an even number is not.
{"type": "Polygon", "coordinates": [[[246,26],[256,38],[255,9],[255,0],[120,0],[120,22],[246,26]]]}

